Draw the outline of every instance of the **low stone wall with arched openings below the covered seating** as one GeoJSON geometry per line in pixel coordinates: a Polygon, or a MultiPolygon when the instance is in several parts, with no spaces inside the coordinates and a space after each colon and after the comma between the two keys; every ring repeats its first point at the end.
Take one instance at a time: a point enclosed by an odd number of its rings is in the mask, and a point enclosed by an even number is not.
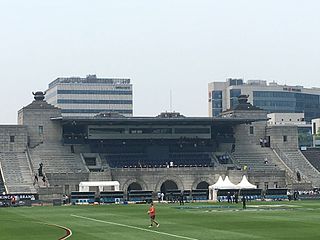
{"type": "MultiPolygon", "coordinates": [[[[196,189],[197,185],[205,181],[209,185],[214,184],[219,176],[223,178],[229,176],[234,184],[238,184],[243,174],[248,176],[252,184],[258,184],[259,188],[286,187],[286,178],[284,171],[278,172],[244,172],[240,170],[219,171],[212,168],[136,168],[136,169],[112,169],[110,172],[100,172],[97,176],[91,176],[92,173],[66,173],[66,174],[47,174],[50,187],[41,187],[39,191],[40,198],[50,198],[50,194],[70,194],[72,191],[78,191],[78,185],[81,181],[102,181],[112,180],[119,181],[120,190],[127,192],[130,184],[138,183],[142,190],[152,190],[159,192],[162,184],[171,180],[175,182],[179,190],[196,189]],[[111,179],[109,179],[111,177],[111,179]],[[54,190],[56,189],[56,190],[54,190]],[[41,195],[45,195],[41,197],[41,195]]],[[[40,183],[41,184],[41,183],[40,183]]]]}

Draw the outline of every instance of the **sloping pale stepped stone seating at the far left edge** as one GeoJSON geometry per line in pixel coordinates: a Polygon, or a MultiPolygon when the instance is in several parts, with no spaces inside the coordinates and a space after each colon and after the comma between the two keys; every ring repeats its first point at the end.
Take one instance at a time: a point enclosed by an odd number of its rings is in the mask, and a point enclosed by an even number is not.
{"type": "Polygon", "coordinates": [[[2,177],[7,193],[36,193],[26,152],[1,152],[2,177]]]}

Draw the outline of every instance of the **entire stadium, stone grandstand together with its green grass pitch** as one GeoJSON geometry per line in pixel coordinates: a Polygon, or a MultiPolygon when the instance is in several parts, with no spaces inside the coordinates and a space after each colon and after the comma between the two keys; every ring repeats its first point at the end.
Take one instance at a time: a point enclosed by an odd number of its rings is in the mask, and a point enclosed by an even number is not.
{"type": "MultiPolygon", "coordinates": [[[[155,117],[125,117],[115,112],[68,117],[48,104],[43,92],[36,92],[34,101],[19,110],[18,125],[0,126],[0,206],[8,207],[1,208],[1,213],[6,213],[3,219],[10,225],[14,214],[25,222],[33,216],[30,224],[35,226],[31,228],[47,239],[58,239],[57,235],[64,235],[61,231],[67,234],[60,239],[105,239],[107,233],[109,239],[254,239],[259,231],[250,235],[250,226],[260,229],[271,224],[276,228],[279,222],[275,219],[255,225],[261,223],[256,212],[244,213],[241,206],[228,203],[239,194],[250,201],[252,210],[254,206],[261,210],[258,215],[264,219],[272,214],[280,218],[282,210],[290,210],[286,212],[298,214],[301,222],[311,216],[308,221],[315,224],[318,203],[287,201],[288,197],[319,199],[320,150],[301,151],[297,126],[268,125],[267,112],[252,106],[247,97],[240,95],[239,104],[219,117],[186,117],[177,112],[155,117]],[[254,188],[236,187],[244,176],[254,188]],[[215,189],[213,198],[209,189],[220,178],[233,185],[215,189]],[[259,205],[251,203],[255,200],[259,205]],[[282,205],[268,200],[279,200],[282,205]],[[159,214],[171,221],[171,226],[163,227],[164,232],[162,226],[145,229],[145,214],[139,215],[146,206],[137,203],[152,201],[172,203],[157,205],[159,214]],[[181,201],[190,205],[178,205],[181,201]],[[218,203],[204,204],[207,202],[218,203]],[[71,206],[50,207],[62,204],[71,206]],[[46,206],[9,208],[35,205],[46,206]],[[123,219],[121,214],[127,217],[123,219]],[[213,214],[219,216],[215,223],[213,214]],[[226,225],[232,225],[230,219],[243,227],[222,233],[226,225]],[[38,222],[45,230],[39,230],[38,222]],[[204,228],[207,223],[215,230],[204,228]],[[81,226],[77,228],[77,224],[81,226]],[[220,226],[220,232],[214,226],[220,226]],[[110,229],[99,230],[102,227],[110,229]],[[72,229],[77,229],[73,236],[72,229]],[[202,233],[207,230],[207,235],[202,233]]],[[[165,222],[163,218],[160,221],[165,222]]],[[[297,236],[294,228],[300,226],[300,220],[296,225],[282,226],[293,231],[292,235],[281,235],[279,230],[275,233],[280,235],[273,238],[297,236]]],[[[27,229],[19,224],[19,229],[27,229]]],[[[301,229],[304,235],[309,233],[308,239],[317,239],[315,228],[301,229]]],[[[6,229],[4,236],[12,236],[6,229]]],[[[268,229],[260,229],[260,233],[260,239],[268,239],[270,234],[268,229]]],[[[30,234],[30,239],[36,238],[30,234]]]]}

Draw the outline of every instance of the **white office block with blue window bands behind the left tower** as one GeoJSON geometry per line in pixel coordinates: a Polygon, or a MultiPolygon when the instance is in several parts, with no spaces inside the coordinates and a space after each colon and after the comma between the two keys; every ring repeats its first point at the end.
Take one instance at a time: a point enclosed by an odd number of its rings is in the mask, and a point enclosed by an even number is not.
{"type": "Polygon", "coordinates": [[[96,75],[57,78],[49,84],[46,100],[61,108],[63,116],[94,116],[102,112],[133,115],[130,79],[97,78],[96,75]]]}

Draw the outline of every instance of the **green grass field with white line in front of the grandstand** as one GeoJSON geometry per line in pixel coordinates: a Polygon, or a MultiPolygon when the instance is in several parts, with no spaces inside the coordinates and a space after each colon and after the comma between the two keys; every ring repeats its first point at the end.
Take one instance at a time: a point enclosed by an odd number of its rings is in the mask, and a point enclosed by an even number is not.
{"type": "Polygon", "coordinates": [[[160,227],[149,228],[147,204],[0,208],[0,239],[212,240],[320,239],[320,202],[157,204],[160,227]]]}

